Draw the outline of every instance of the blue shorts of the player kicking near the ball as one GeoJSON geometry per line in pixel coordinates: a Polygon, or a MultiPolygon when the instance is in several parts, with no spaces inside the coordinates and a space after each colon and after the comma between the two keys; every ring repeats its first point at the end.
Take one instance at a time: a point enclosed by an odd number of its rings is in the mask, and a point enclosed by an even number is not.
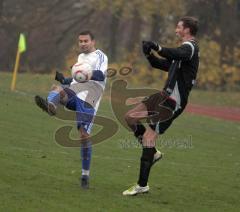
{"type": "Polygon", "coordinates": [[[76,94],[70,93],[69,89],[64,89],[68,94],[66,107],[76,111],[77,128],[83,128],[88,134],[91,133],[95,109],[87,102],[79,99],[76,94]]]}

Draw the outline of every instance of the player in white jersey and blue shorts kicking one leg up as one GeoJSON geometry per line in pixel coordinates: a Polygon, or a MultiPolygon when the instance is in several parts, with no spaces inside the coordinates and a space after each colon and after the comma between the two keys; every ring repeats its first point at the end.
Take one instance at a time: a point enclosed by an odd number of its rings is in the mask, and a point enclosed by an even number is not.
{"type": "Polygon", "coordinates": [[[96,49],[95,39],[90,31],[81,32],[78,42],[81,51],[78,62],[87,62],[94,67],[91,79],[84,83],[78,83],[72,77],[65,78],[63,74],[57,72],[55,79],[62,86],[53,85],[46,100],[40,96],[35,96],[35,102],[49,115],[56,115],[59,104],[76,111],[77,128],[81,138],[81,186],[89,188],[92,155],[89,136],[106,84],[108,58],[101,50],[96,49]]]}

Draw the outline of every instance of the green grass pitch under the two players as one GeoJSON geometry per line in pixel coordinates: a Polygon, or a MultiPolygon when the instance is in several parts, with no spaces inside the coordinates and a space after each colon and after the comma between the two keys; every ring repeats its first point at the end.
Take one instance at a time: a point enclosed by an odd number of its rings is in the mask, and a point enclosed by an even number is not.
{"type": "MultiPolygon", "coordinates": [[[[182,115],[158,143],[165,157],[152,169],[150,193],[135,197],[121,193],[136,182],[141,149],[120,127],[94,146],[91,188],[82,190],[79,149],[54,141],[69,123],[33,103],[34,94],[46,94],[50,77],[20,75],[17,88],[26,93],[10,92],[10,80],[0,74],[0,211],[239,211],[239,123],[182,115]]],[[[238,106],[236,97],[194,91],[192,99],[238,106]]],[[[107,98],[99,114],[114,118],[107,98]]]]}

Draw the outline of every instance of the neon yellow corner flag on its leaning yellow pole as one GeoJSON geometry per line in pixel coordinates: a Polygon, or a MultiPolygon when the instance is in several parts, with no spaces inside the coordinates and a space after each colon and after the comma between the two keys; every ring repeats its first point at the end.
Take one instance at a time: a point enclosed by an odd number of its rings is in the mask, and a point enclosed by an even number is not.
{"type": "Polygon", "coordinates": [[[18,67],[19,67],[19,62],[20,62],[20,55],[21,53],[25,52],[27,49],[26,47],[26,38],[23,33],[20,33],[19,41],[18,41],[18,50],[17,50],[17,56],[16,56],[16,62],[14,66],[14,71],[13,71],[13,78],[12,78],[12,83],[11,83],[11,90],[15,90],[16,87],[16,81],[17,81],[17,72],[18,72],[18,67]]]}

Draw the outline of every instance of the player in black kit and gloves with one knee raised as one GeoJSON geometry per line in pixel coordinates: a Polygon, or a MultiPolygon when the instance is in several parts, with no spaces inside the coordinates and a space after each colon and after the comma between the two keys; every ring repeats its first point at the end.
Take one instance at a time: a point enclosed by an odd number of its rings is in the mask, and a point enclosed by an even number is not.
{"type": "Polygon", "coordinates": [[[156,139],[163,134],[184,110],[188,96],[195,83],[199,66],[199,48],[195,40],[198,21],[194,17],[182,17],[176,26],[176,36],[182,42],[177,48],[166,48],[152,41],[143,41],[143,53],[152,67],[168,72],[162,91],[145,98],[128,111],[125,120],[142,143],[139,179],[136,185],[123,195],[136,195],[149,191],[148,177],[152,165],[162,158],[155,148],[156,139]],[[152,50],[161,57],[156,57],[152,50]],[[146,119],[149,127],[140,122],[146,119]]]}

